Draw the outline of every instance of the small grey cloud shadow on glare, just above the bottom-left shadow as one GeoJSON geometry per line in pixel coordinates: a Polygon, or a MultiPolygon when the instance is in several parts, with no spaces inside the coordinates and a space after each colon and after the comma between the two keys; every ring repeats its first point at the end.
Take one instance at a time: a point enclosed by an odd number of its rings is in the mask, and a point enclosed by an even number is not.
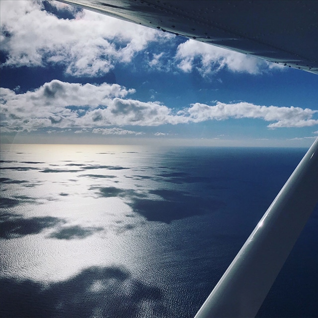
{"type": "Polygon", "coordinates": [[[49,238],[53,239],[85,239],[96,232],[102,231],[103,228],[98,227],[80,227],[70,226],[60,228],[58,231],[50,234],[49,238]]]}

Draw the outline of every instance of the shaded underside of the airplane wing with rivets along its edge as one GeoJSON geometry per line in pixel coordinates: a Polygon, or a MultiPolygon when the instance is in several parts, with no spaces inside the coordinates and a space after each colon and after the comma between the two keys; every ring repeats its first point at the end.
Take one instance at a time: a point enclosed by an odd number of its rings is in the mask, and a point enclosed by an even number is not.
{"type": "Polygon", "coordinates": [[[318,1],[61,1],[318,74],[318,1]]]}

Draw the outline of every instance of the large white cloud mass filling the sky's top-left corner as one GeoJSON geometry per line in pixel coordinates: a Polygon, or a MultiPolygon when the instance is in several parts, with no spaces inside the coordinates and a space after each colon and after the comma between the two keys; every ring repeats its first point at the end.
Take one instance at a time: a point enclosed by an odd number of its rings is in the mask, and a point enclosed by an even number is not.
{"type": "MultiPolygon", "coordinates": [[[[151,42],[172,37],[155,29],[55,3],[74,19],[44,10],[42,1],[1,1],[1,50],[5,66],[62,64],[67,74],[98,76],[127,63],[151,42]]],[[[154,62],[155,63],[155,62],[154,62]]]]}

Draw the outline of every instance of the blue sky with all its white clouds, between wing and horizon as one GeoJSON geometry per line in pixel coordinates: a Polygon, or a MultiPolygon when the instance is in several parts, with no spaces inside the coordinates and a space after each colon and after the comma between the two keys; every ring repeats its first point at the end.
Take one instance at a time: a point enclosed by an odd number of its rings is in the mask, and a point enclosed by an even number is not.
{"type": "Polygon", "coordinates": [[[309,147],[318,76],[57,1],[1,1],[1,142],[309,147]]]}

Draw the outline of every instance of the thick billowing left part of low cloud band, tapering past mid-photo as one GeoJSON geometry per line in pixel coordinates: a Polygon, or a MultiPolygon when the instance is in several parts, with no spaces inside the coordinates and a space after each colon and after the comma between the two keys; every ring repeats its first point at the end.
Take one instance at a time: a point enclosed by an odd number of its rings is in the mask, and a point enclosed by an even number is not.
{"type": "MultiPolygon", "coordinates": [[[[189,121],[186,117],[176,116],[171,108],[159,102],[123,98],[134,92],[134,89],[118,84],[83,85],[60,80],[52,80],[22,94],[1,88],[1,131],[159,126],[189,121]]],[[[127,134],[128,131],[111,133],[127,134]]]]}

